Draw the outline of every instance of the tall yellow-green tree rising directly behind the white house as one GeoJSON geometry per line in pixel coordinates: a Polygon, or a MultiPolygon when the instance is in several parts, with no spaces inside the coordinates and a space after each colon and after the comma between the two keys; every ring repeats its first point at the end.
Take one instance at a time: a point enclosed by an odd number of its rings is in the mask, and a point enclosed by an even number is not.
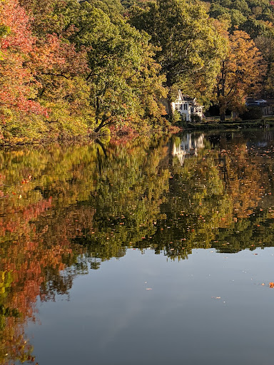
{"type": "Polygon", "coordinates": [[[174,86],[191,95],[199,93],[201,85],[204,93],[212,90],[225,40],[201,4],[158,0],[146,9],[133,7],[132,13],[132,24],[146,31],[151,43],[159,47],[156,61],[166,76],[170,113],[171,101],[177,96],[174,86]]]}

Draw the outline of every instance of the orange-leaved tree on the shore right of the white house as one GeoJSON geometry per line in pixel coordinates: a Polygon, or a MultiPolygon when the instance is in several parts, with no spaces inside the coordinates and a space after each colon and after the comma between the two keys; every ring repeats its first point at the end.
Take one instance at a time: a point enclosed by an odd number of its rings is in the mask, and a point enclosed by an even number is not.
{"type": "Polygon", "coordinates": [[[216,86],[221,121],[225,120],[225,110],[243,110],[246,96],[258,91],[265,72],[263,58],[248,34],[233,31],[228,40],[228,55],[221,62],[216,86]]]}

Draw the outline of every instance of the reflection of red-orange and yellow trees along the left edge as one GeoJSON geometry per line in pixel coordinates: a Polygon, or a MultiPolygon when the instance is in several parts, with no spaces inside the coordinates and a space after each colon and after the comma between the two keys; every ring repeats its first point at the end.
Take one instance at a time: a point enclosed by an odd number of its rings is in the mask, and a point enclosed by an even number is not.
{"type": "MultiPolygon", "coordinates": [[[[39,294],[45,300],[54,298],[55,293],[68,292],[73,275],[63,270],[74,264],[81,252],[73,253],[66,232],[56,230],[56,223],[54,227],[58,207],[68,207],[79,193],[69,189],[71,180],[77,177],[73,165],[81,161],[79,151],[74,155],[73,151],[66,155],[61,148],[43,152],[13,151],[0,157],[4,166],[0,199],[4,212],[0,217],[0,364],[33,359],[24,336],[24,322],[34,320],[39,294]],[[51,239],[46,240],[49,232],[51,239]]],[[[88,158],[93,160],[92,153],[88,158]]]]}

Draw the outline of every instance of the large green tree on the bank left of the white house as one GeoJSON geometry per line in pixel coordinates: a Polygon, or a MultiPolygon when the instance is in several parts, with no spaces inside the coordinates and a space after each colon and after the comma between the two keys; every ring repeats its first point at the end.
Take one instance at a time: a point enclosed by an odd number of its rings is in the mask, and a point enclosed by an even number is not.
{"type": "Polygon", "coordinates": [[[113,20],[88,2],[76,7],[76,32],[70,39],[78,48],[87,49],[90,72],[86,83],[95,131],[113,123],[124,125],[133,118],[139,121],[143,116],[161,115],[163,78],[158,74],[159,65],[153,60],[148,36],[121,16],[113,20]]]}

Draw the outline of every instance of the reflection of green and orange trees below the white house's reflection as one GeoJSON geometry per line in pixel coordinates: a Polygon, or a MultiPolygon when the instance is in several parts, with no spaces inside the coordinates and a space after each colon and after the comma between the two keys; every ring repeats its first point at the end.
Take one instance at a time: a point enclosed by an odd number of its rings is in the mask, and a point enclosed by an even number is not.
{"type": "Polygon", "coordinates": [[[150,245],[180,259],[193,248],[238,252],[272,245],[273,215],[262,208],[270,206],[271,195],[267,205],[261,199],[271,188],[268,164],[254,160],[243,139],[234,139],[230,144],[220,136],[220,149],[198,151],[183,166],[173,160],[169,194],[161,205],[166,220],[139,247],[150,245]]]}

